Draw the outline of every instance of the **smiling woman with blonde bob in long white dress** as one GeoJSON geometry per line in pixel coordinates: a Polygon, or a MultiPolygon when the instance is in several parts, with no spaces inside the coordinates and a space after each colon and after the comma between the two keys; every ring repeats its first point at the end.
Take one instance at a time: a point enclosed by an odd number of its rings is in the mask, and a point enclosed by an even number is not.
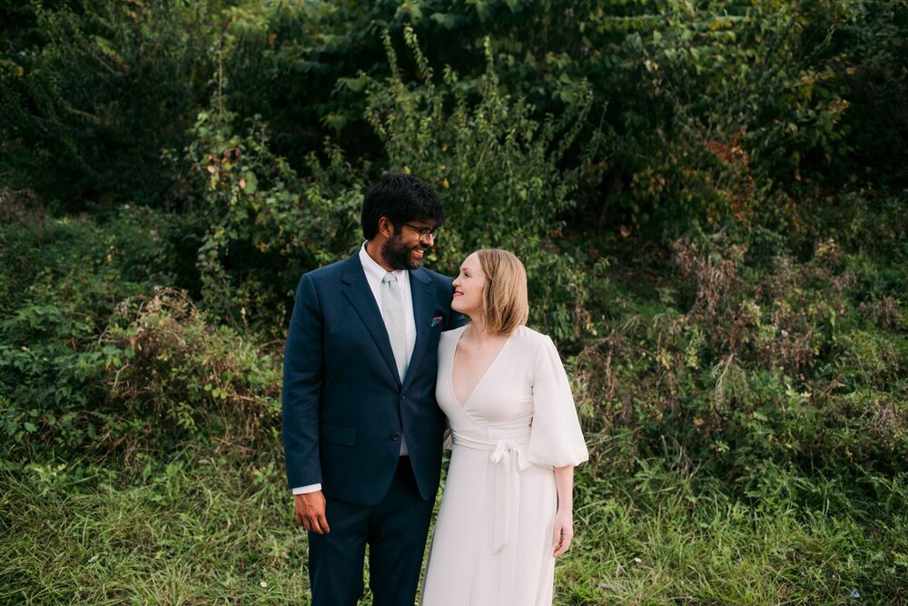
{"type": "Polygon", "coordinates": [[[551,338],[523,326],[527,274],[506,250],[471,254],[441,335],[436,397],[453,450],[423,606],[551,604],[555,558],[574,535],[574,467],[587,460],[551,338]]]}

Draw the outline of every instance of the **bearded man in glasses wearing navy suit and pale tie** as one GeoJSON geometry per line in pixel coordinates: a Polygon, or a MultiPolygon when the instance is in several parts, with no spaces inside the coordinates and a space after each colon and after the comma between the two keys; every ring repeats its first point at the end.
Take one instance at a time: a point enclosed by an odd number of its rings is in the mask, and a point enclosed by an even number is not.
{"type": "Polygon", "coordinates": [[[420,268],[444,217],[425,182],[386,174],[363,200],[359,251],[297,288],[283,442],[315,606],[356,604],[367,543],[375,606],[416,595],[445,431],[439,335],[464,321],[451,280],[420,268]]]}

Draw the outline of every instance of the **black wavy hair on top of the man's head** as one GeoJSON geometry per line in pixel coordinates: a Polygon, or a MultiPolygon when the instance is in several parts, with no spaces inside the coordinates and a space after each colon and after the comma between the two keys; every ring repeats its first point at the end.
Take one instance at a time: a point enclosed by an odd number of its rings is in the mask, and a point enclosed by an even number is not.
{"type": "Polygon", "coordinates": [[[389,172],[381,175],[362,200],[362,235],[372,239],[379,232],[379,220],[387,217],[395,227],[410,221],[432,222],[439,227],[445,210],[438,194],[412,175],[389,172]]]}

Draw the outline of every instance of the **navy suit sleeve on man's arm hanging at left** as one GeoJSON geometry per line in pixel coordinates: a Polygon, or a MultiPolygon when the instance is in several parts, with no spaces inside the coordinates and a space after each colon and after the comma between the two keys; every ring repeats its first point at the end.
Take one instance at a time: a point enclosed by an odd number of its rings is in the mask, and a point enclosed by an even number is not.
{"type": "Polygon", "coordinates": [[[281,401],[284,458],[290,488],[321,483],[319,405],[324,317],[309,275],[300,280],[284,348],[281,401]]]}

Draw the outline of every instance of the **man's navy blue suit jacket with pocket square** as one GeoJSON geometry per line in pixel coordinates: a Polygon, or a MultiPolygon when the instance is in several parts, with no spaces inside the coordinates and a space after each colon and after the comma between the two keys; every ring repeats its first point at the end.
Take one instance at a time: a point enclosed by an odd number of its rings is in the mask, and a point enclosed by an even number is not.
{"type": "Polygon", "coordinates": [[[358,254],[302,276],[284,350],[283,443],[289,486],[372,505],[388,492],[407,438],[423,498],[441,473],[445,417],[435,401],[439,336],[464,318],[451,279],[410,271],[416,345],[400,384],[388,332],[358,254]]]}

